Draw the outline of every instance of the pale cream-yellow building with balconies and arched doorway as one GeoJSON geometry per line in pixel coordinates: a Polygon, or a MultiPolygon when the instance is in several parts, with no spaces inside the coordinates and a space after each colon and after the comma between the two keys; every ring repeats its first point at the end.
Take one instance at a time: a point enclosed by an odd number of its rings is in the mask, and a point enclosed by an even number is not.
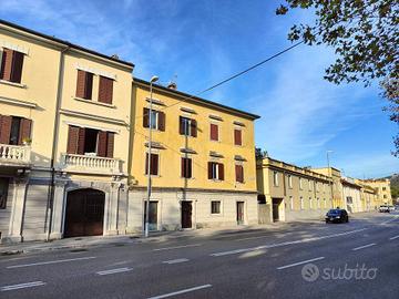
{"type": "Polygon", "coordinates": [[[0,58],[2,241],[124,230],[133,64],[6,21],[0,58]]]}

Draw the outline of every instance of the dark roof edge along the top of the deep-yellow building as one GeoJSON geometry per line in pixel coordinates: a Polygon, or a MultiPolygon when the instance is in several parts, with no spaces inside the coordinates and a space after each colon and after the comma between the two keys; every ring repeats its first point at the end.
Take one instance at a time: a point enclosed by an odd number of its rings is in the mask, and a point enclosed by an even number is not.
{"type": "MultiPolygon", "coordinates": [[[[149,81],[145,81],[145,80],[142,80],[142,79],[137,79],[137,78],[134,78],[134,79],[133,79],[133,82],[136,82],[136,83],[142,84],[142,85],[150,85],[150,82],[149,82],[149,81]]],[[[260,118],[259,115],[256,115],[256,114],[253,114],[253,113],[248,113],[248,112],[245,112],[245,111],[242,111],[242,110],[238,110],[238,109],[229,107],[229,106],[226,106],[226,105],[223,105],[223,104],[219,104],[219,103],[209,101],[209,100],[205,100],[205,99],[202,99],[202,97],[198,97],[198,96],[188,94],[188,93],[184,93],[184,92],[181,92],[181,91],[172,90],[172,89],[168,89],[168,87],[158,85],[158,84],[153,84],[153,86],[154,86],[155,89],[161,90],[161,91],[165,91],[165,92],[168,92],[168,93],[174,93],[174,94],[176,94],[177,96],[186,97],[187,100],[190,99],[190,101],[192,101],[192,102],[197,102],[197,103],[202,103],[202,104],[205,104],[205,105],[211,105],[211,106],[215,106],[215,107],[218,107],[218,109],[222,109],[222,110],[226,110],[226,111],[228,111],[228,112],[233,112],[233,113],[236,113],[236,114],[244,115],[244,116],[246,116],[246,117],[248,117],[248,118],[250,118],[250,120],[260,118]]]]}

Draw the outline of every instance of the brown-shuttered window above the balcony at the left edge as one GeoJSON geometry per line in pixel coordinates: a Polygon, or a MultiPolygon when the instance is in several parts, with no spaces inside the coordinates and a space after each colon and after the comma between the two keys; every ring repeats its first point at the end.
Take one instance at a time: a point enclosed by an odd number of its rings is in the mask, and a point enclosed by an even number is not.
{"type": "Polygon", "coordinates": [[[22,145],[31,136],[31,120],[0,115],[0,143],[22,145]]]}

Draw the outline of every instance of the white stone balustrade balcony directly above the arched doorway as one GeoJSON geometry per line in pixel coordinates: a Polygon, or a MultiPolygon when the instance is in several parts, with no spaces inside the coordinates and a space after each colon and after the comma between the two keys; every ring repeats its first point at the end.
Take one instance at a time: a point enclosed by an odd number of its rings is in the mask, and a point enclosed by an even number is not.
{"type": "Polygon", "coordinates": [[[120,175],[122,173],[122,161],[94,155],[63,154],[62,171],[71,173],[120,175]]]}

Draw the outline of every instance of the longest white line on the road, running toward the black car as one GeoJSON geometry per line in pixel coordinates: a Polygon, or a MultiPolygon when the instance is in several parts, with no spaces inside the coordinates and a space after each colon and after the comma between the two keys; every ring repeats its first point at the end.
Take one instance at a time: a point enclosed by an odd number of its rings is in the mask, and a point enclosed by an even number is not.
{"type": "Polygon", "coordinates": [[[360,229],[355,229],[355,230],[349,230],[349,231],[344,231],[344,233],[338,233],[338,234],[332,234],[332,235],[327,235],[327,236],[321,236],[321,237],[311,237],[311,238],[305,238],[305,239],[299,239],[299,240],[294,240],[294,241],[283,241],[283,243],[262,245],[262,246],[249,247],[249,248],[241,248],[241,249],[235,249],[235,250],[229,250],[229,251],[214,252],[214,254],[211,254],[209,256],[212,256],[212,257],[222,257],[222,256],[243,254],[243,252],[255,251],[255,250],[260,250],[260,249],[269,249],[269,248],[275,248],[275,247],[283,247],[283,246],[287,246],[287,245],[309,243],[309,241],[315,241],[315,240],[321,240],[321,239],[328,239],[328,238],[334,238],[334,237],[346,236],[346,235],[364,231],[367,228],[360,228],[360,229]]]}

